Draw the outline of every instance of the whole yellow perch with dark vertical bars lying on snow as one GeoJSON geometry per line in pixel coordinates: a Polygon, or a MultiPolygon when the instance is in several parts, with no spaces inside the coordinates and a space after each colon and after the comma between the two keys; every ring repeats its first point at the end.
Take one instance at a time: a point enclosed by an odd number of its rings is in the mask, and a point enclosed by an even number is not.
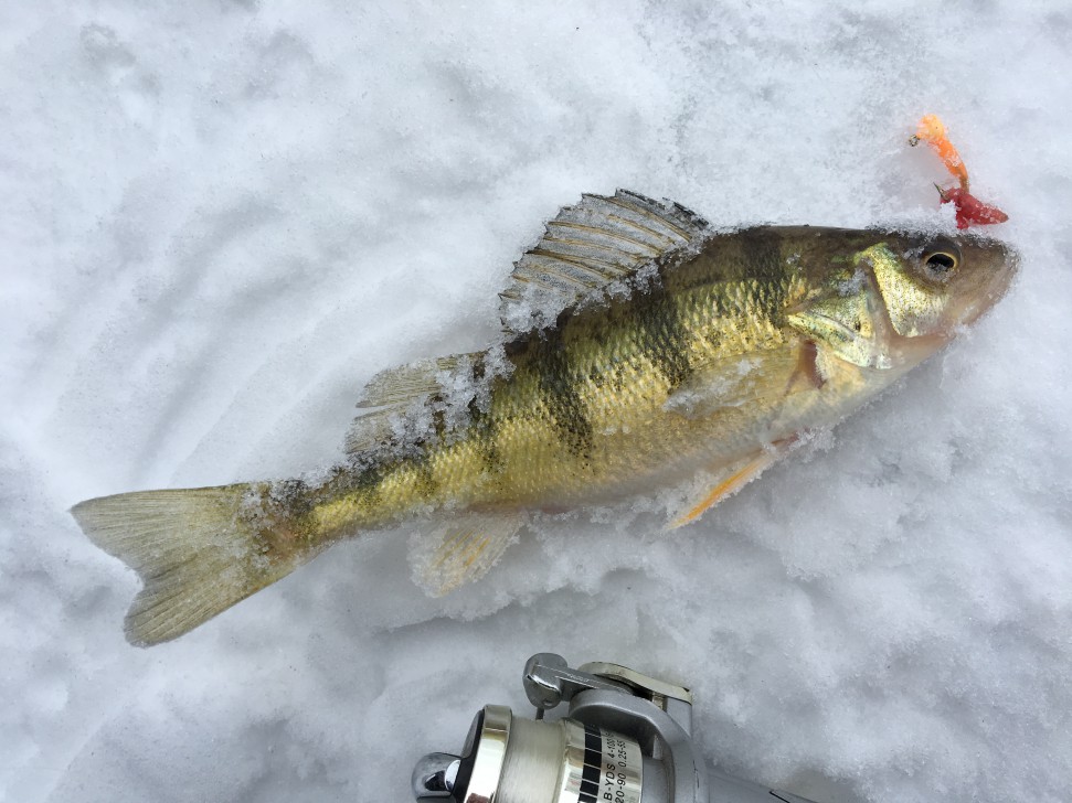
{"type": "Polygon", "coordinates": [[[943,349],[1017,265],[977,235],[717,228],[670,201],[586,194],[514,264],[500,341],[374,375],[330,470],[71,513],[140,576],[124,624],[139,646],[400,525],[416,581],[443,595],[538,511],[710,478],[667,524],[697,520],[943,349]]]}

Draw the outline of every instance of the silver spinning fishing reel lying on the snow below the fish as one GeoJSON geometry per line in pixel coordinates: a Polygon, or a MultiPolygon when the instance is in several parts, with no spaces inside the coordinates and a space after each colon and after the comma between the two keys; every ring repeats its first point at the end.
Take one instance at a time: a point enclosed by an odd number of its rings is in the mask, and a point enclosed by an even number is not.
{"type": "Polygon", "coordinates": [[[814,803],[704,768],[687,688],[552,653],[529,659],[523,678],[535,718],[485,706],[460,756],[417,762],[420,803],[814,803]],[[563,703],[565,717],[544,719],[563,703]]]}

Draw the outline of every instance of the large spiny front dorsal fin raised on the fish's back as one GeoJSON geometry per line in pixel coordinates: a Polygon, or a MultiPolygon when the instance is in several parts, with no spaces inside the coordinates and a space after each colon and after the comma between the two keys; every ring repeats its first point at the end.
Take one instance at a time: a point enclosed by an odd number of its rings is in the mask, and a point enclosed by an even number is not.
{"type": "Polygon", "coordinates": [[[582,195],[581,203],[559,211],[540,242],[514,264],[510,285],[499,293],[502,324],[513,333],[544,325],[563,309],[708,234],[707,221],[671,201],[628,190],[611,197],[582,195]]]}

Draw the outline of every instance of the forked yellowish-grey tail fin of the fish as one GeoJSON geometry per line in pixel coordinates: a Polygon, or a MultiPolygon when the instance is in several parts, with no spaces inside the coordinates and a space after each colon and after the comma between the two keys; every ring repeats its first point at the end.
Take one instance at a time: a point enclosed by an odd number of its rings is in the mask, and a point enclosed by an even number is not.
{"type": "Polygon", "coordinates": [[[89,539],[145,583],[127,611],[127,641],[176,639],[314,556],[272,549],[263,524],[243,513],[251,492],[248,484],[138,491],[71,508],[89,539]]]}

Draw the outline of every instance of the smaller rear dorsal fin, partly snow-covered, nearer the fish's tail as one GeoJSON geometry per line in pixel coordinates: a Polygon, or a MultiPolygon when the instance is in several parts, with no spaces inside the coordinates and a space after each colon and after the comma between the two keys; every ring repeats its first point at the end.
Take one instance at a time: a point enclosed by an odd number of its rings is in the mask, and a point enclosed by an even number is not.
{"type": "Polygon", "coordinates": [[[429,398],[475,382],[484,374],[482,352],[420,360],[381,371],[369,379],[359,413],[347,432],[346,451],[360,454],[399,435],[401,417],[429,398]]]}

